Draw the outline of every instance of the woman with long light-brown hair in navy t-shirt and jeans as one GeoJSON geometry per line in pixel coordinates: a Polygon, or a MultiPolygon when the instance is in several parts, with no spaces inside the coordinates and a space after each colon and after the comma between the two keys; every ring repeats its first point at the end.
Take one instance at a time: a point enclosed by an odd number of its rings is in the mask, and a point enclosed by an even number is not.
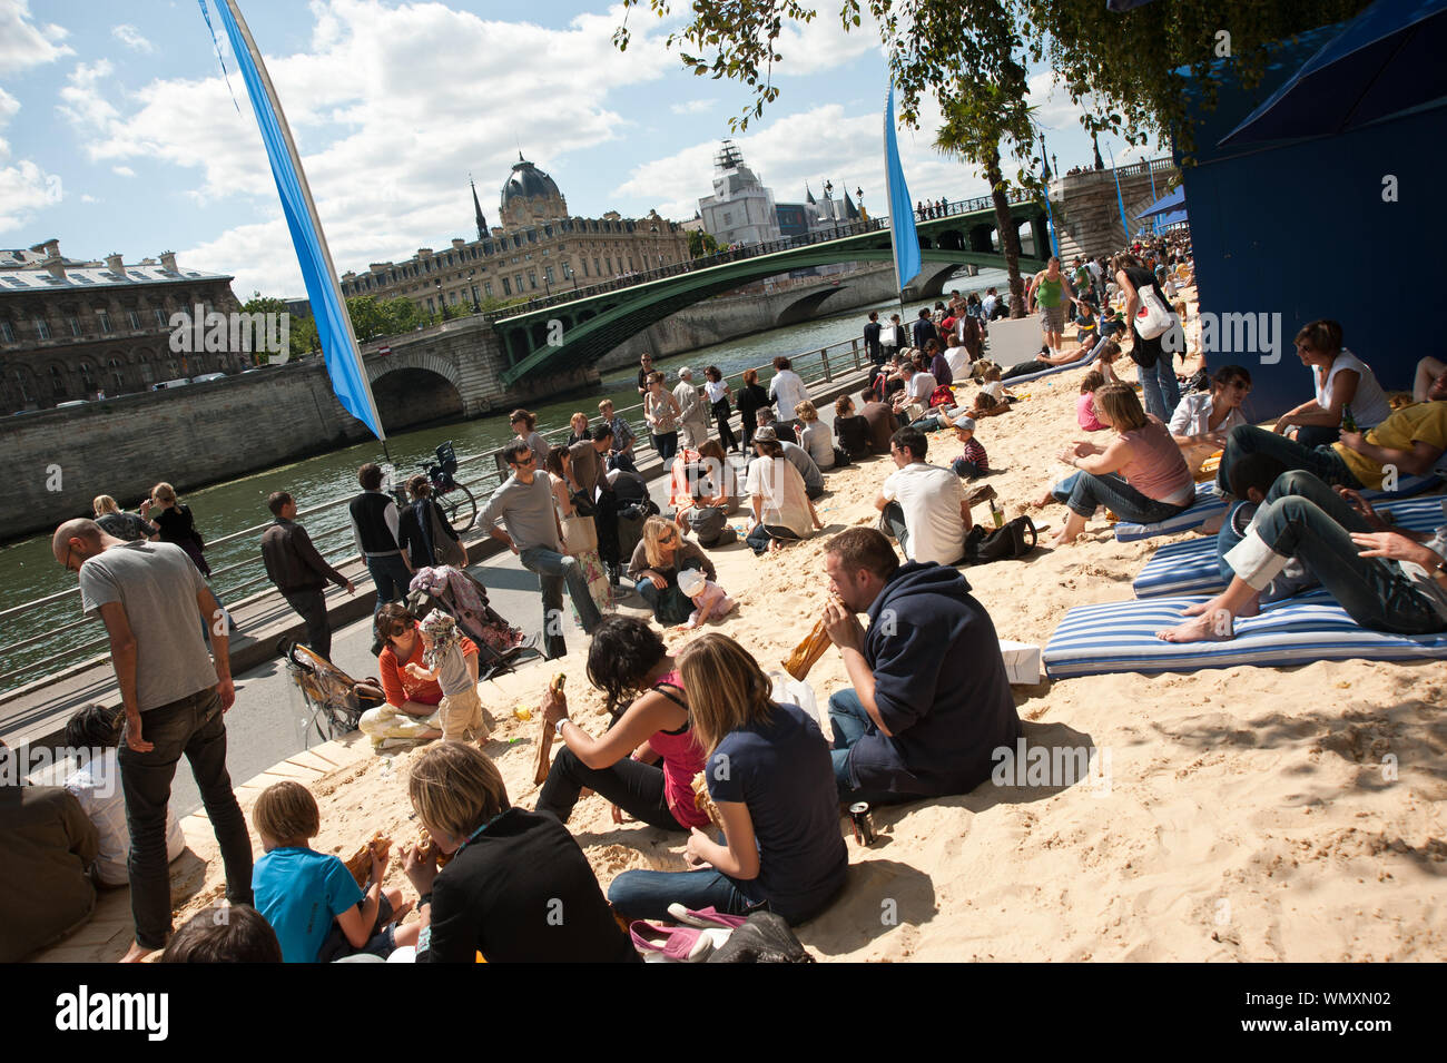
{"type": "Polygon", "coordinates": [[[797,706],[774,703],[758,662],[726,635],[692,642],[679,671],[693,691],[724,843],[695,827],[687,861],[697,871],[625,871],[608,900],[629,918],[667,918],[674,902],[732,914],[767,904],[790,923],[813,918],[844,888],[849,866],[819,725],[797,706]]]}

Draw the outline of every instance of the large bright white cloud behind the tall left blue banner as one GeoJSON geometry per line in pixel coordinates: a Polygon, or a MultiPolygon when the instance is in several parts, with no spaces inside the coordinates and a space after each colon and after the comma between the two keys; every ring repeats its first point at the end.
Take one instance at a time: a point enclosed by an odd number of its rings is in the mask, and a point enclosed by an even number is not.
{"type": "MultiPolygon", "coordinates": [[[[311,10],[317,25],[307,54],[268,54],[268,42],[258,43],[341,272],[469,236],[469,172],[496,174],[501,184],[518,140],[544,169],[618,140],[629,123],[606,107],[606,93],[661,78],[677,64],[660,35],[635,33],[619,54],[612,45],[619,7],[561,29],[488,22],[436,3],[330,0],[311,10]],[[466,78],[418,75],[463,69],[466,78]]],[[[233,62],[227,69],[230,91],[218,72],[126,90],[106,61],[80,64],[61,110],[93,162],[194,169],[192,198],[201,204],[252,197],[262,217],[276,220],[237,226],[188,255],[195,268],[237,272],[245,278],[237,291],[291,294],[300,275],[275,184],[242,80],[233,62]]],[[[496,200],[485,198],[483,210],[493,217],[496,200]]]]}

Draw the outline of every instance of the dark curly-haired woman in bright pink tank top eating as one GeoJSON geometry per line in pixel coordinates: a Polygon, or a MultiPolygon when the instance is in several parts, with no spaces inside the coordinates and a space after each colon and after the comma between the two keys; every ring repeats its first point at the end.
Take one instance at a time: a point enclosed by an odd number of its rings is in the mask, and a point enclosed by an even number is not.
{"type": "Polygon", "coordinates": [[[605,616],[587,649],[587,680],[608,696],[614,723],[593,738],[569,720],[567,697],[551,687],[543,694],[543,716],[559,727],[564,748],[553,759],[537,810],[567,823],[587,787],[660,830],[708,826],[692,788],[703,771],[703,749],[674,661],[657,632],[647,620],[605,616]]]}

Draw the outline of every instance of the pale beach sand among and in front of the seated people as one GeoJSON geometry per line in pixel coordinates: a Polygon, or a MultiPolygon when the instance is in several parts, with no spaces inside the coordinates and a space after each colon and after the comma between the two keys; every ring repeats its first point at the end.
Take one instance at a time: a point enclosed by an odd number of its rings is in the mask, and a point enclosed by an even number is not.
{"type": "MultiPolygon", "coordinates": [[[[1132,376],[1129,363],[1123,373],[1132,376]]],[[[988,483],[1009,516],[1066,471],[1053,456],[1084,435],[1074,421],[1079,377],[1023,385],[1029,399],[980,422],[1001,470],[988,483]]],[[[941,463],[958,454],[946,434],[930,445],[941,463]]],[[[873,498],[891,470],[877,458],[829,474],[818,503],[828,531],[873,524],[873,498]]],[[[1053,528],[1064,521],[1058,506],[1032,515],[1053,528]]],[[[987,511],[977,518],[988,521],[987,511]]],[[[818,616],[823,539],[764,558],[742,544],[710,551],[719,583],[739,602],[712,629],[738,638],[765,671],[818,616]]],[[[1133,576],[1165,541],[1116,542],[1097,519],[1077,544],[965,577],[1001,638],[1043,646],[1071,606],[1129,599],[1133,576]]],[[[667,641],[677,649],[695,636],[669,632],[667,641]]],[[[535,706],[564,671],[572,717],[595,735],[603,729],[582,651],[483,684],[499,720],[488,752],[519,806],[537,800],[541,725],[515,720],[514,706],[535,706]]],[[[809,681],[820,703],[845,686],[836,651],[809,681]]],[[[822,960],[1447,959],[1444,690],[1447,662],[1362,661],[1014,687],[1027,740],[1094,746],[1104,777],[1055,788],[987,782],[962,797],[875,810],[880,842],[849,842],[845,891],[799,937],[822,960]]],[[[412,839],[405,775],[414,755],[365,759],[315,785],[317,848],[346,855],[378,829],[412,839]]],[[[605,888],[629,868],[684,866],[682,834],[616,826],[599,797],[583,800],[569,827],[605,888]]],[[[179,918],[221,892],[214,845],[198,855],[208,861],[205,882],[179,918]]],[[[388,882],[405,885],[396,868],[388,882]]]]}

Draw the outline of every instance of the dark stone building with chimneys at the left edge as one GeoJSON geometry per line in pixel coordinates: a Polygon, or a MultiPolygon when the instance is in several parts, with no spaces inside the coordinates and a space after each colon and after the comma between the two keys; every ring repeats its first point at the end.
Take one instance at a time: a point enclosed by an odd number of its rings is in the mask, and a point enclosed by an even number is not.
{"type": "Polygon", "coordinates": [[[59,240],[0,249],[0,412],[116,398],[201,373],[240,372],[236,351],[175,353],[171,317],[240,308],[232,278],[198,273],[162,252],[80,262],[59,240]]]}

